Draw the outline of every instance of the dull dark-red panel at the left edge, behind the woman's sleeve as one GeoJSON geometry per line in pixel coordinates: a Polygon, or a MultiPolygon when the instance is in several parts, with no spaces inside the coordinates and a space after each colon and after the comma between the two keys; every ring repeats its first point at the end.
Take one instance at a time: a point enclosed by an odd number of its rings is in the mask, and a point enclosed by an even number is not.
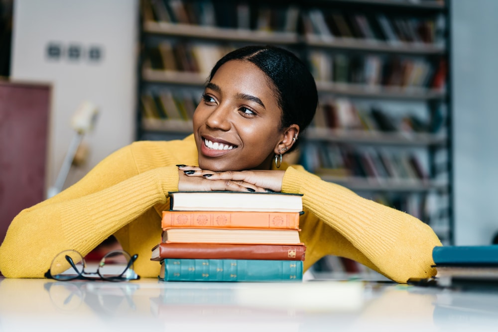
{"type": "Polygon", "coordinates": [[[45,198],[51,87],[0,80],[0,242],[10,221],[45,198]]]}

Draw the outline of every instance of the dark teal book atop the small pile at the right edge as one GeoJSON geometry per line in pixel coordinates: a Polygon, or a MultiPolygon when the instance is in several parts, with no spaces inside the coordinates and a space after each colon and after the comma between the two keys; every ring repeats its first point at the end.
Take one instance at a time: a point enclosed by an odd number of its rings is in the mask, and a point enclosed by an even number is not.
{"type": "Polygon", "coordinates": [[[432,259],[436,266],[498,266],[498,245],[437,246],[432,259]]]}

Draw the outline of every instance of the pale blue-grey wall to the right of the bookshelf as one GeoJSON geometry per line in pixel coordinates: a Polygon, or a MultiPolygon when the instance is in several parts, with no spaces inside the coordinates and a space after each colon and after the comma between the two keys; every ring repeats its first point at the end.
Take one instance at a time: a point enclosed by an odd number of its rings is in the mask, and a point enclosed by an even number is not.
{"type": "Polygon", "coordinates": [[[498,1],[452,0],[455,242],[498,230],[498,1]]]}

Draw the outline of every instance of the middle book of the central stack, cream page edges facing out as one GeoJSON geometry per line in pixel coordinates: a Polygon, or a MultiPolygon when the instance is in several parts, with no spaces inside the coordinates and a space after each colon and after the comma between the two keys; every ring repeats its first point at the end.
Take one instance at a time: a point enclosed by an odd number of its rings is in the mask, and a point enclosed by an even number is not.
{"type": "Polygon", "coordinates": [[[298,244],[298,229],[167,228],[162,242],[298,244]]]}

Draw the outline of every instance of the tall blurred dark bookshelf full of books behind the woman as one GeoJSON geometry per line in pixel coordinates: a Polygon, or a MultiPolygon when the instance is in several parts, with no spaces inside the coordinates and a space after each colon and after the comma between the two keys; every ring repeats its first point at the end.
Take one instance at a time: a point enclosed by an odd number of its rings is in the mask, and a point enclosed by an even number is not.
{"type": "Polygon", "coordinates": [[[450,0],[142,0],[137,139],[191,132],[209,70],[248,44],[308,63],[319,108],[300,159],[453,243],[450,0]]]}

